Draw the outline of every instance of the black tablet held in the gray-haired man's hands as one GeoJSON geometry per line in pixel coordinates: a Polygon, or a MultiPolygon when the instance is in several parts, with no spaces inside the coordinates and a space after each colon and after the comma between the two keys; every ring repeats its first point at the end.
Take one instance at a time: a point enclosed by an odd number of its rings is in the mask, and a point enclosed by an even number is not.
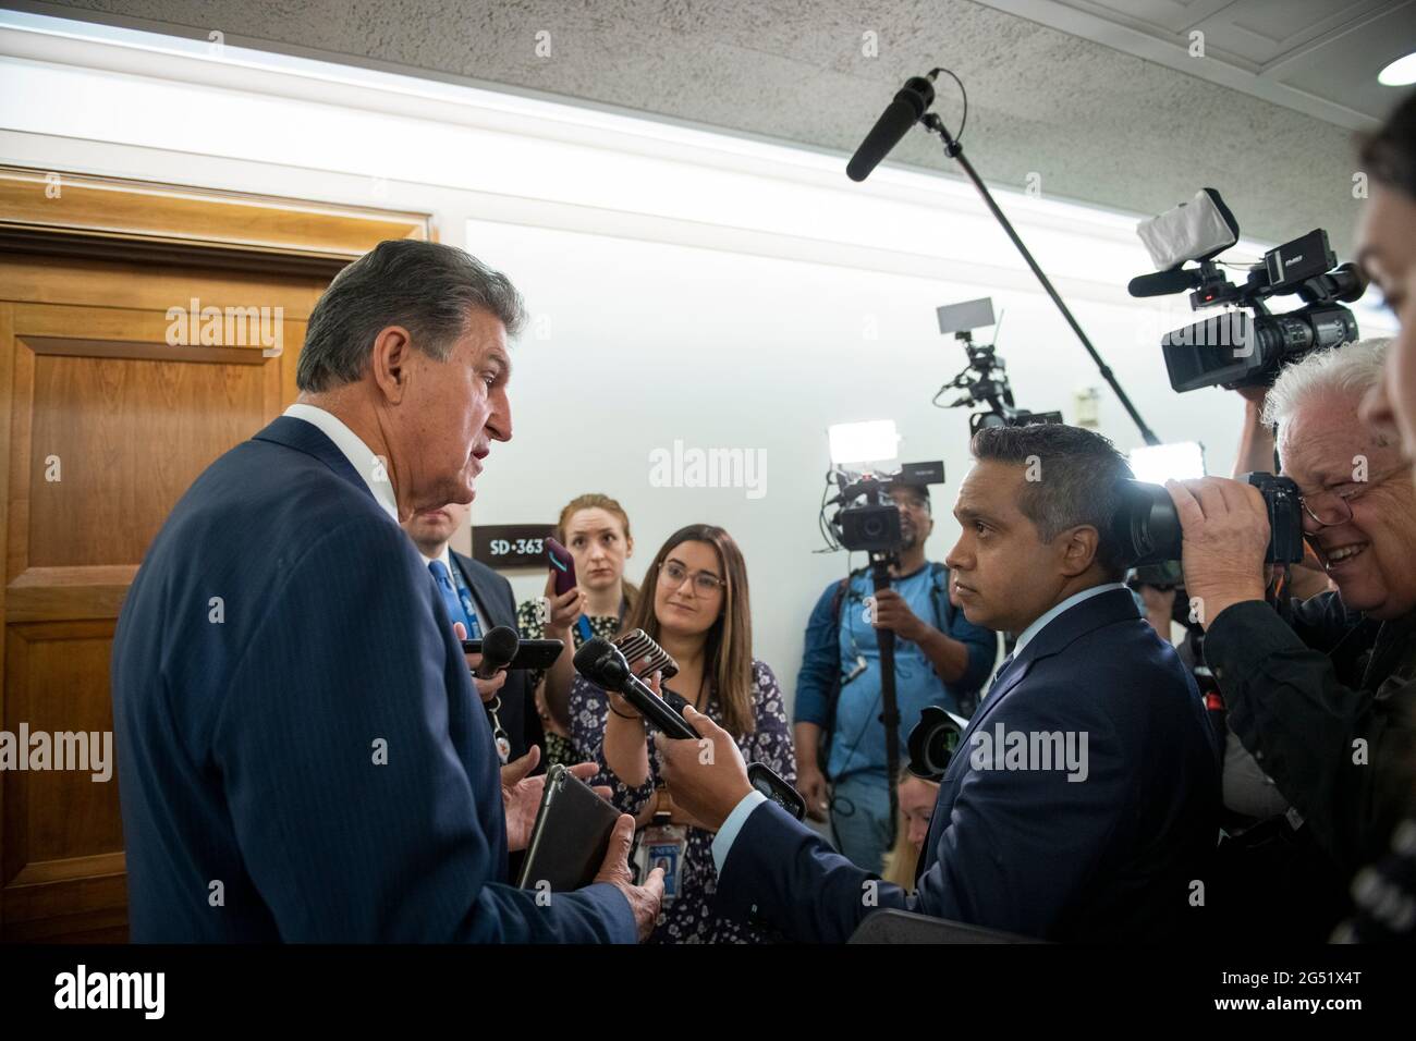
{"type": "Polygon", "coordinates": [[[619,817],[619,810],[595,789],[556,763],[545,775],[541,810],[517,885],[551,892],[589,885],[605,863],[619,817]]]}

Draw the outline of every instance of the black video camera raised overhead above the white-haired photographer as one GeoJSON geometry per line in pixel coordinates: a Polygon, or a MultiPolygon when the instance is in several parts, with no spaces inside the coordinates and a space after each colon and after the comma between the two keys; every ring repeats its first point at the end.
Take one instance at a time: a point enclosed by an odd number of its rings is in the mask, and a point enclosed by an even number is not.
{"type": "Polygon", "coordinates": [[[1357,319],[1341,303],[1366,292],[1366,276],[1354,263],[1337,263],[1321,228],[1266,252],[1239,286],[1214,259],[1239,241],[1239,224],[1214,188],[1144,221],[1137,234],[1157,273],[1131,279],[1131,296],[1188,289],[1194,310],[1221,305],[1236,309],[1161,339],[1170,385],[1178,392],[1215,385],[1267,387],[1283,365],[1358,339],[1357,319]],[[1198,261],[1198,266],[1184,268],[1187,261],[1198,261]],[[1272,314],[1264,300],[1289,295],[1297,295],[1304,306],[1272,314]],[[1252,310],[1253,317],[1242,309],[1252,310]]]}

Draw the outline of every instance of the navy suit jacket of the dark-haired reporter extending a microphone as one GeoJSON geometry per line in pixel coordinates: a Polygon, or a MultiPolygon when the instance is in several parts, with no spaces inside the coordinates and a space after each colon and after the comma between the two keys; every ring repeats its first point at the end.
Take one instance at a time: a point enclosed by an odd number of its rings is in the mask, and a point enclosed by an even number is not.
{"type": "Polygon", "coordinates": [[[916,895],[763,803],[728,851],[718,911],[814,942],[847,939],[877,908],[1052,940],[1188,935],[1204,915],[1191,882],[1219,836],[1218,749],[1194,680],[1130,592],[1065,610],[994,687],[940,785],[916,895]],[[993,759],[974,735],[998,727],[1085,732],[1086,779],[980,769],[993,759]]]}

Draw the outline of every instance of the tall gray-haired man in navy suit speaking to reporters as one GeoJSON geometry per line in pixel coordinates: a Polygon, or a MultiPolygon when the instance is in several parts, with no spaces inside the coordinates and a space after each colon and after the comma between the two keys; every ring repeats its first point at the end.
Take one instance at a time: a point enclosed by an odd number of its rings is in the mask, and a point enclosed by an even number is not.
{"type": "Polygon", "coordinates": [[[113,639],[136,940],[630,942],[620,819],[595,885],[506,884],[539,780],[503,785],[453,620],[399,518],[508,440],[523,317],[459,249],[384,242],[310,314],[286,414],[212,463],[113,639]]]}

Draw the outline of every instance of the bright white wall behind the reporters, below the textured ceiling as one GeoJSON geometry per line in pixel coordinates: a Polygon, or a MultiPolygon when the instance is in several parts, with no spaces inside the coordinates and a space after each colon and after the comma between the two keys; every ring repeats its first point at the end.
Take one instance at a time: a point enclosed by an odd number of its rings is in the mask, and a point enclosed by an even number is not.
{"type": "MultiPolygon", "coordinates": [[[[1102,385],[969,186],[889,169],[855,186],[840,156],[0,11],[0,160],[432,212],[534,314],[514,354],[515,436],[474,520],[549,521],[606,491],[629,508],[636,579],[674,528],[722,524],[748,558],[758,656],[789,691],[806,613],[847,568],[813,554],[828,423],[893,418],[903,459],[942,457],[930,555],[957,534],[967,419],[929,399],[963,351],[937,333],[937,305],[993,296],[1021,405],[1070,418],[1073,392],[1102,385]],[[765,494],[653,487],[650,452],[675,439],[760,449],[765,494]]],[[[1153,429],[1202,440],[1228,473],[1238,399],[1172,394],[1157,346],[1188,307],[1124,293],[1148,269],[1136,218],[997,194],[1153,429]]],[[[1100,415],[1123,449],[1140,443],[1106,389],[1100,415]]],[[[513,581],[521,596],[542,582],[513,581]]]]}

